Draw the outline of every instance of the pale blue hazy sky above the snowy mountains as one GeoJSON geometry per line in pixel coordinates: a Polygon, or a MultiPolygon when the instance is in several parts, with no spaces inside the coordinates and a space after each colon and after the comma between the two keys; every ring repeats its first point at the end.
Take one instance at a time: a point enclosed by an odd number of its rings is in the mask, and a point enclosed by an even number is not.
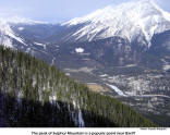
{"type": "MultiPolygon", "coordinates": [[[[0,16],[17,15],[46,22],[64,22],[123,1],[131,0],[0,0],[0,16]]],[[[170,0],[156,1],[170,12],[170,0]]]]}

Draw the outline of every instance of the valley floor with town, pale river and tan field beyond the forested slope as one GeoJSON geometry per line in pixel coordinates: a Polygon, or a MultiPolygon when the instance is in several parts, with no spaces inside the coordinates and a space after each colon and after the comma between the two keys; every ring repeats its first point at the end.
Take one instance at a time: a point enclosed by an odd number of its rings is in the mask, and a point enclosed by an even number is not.
{"type": "Polygon", "coordinates": [[[135,73],[132,72],[133,66],[117,66],[117,70],[81,68],[85,71],[66,69],[64,72],[86,83],[94,91],[113,96],[160,125],[170,126],[170,121],[167,121],[170,120],[170,74],[149,69],[135,73]],[[119,73],[124,68],[129,72],[119,73]]]}

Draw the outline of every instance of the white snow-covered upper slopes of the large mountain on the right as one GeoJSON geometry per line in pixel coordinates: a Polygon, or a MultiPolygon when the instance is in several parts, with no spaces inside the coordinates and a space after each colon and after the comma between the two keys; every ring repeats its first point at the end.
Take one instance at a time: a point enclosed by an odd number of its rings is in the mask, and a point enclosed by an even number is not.
{"type": "MultiPolygon", "coordinates": [[[[77,41],[104,39],[120,36],[147,44],[154,34],[170,29],[170,14],[161,10],[154,1],[141,0],[120,5],[109,5],[84,17],[74,19],[62,26],[83,25],[65,36],[77,41]]],[[[68,39],[69,39],[68,38],[68,39]]]]}

